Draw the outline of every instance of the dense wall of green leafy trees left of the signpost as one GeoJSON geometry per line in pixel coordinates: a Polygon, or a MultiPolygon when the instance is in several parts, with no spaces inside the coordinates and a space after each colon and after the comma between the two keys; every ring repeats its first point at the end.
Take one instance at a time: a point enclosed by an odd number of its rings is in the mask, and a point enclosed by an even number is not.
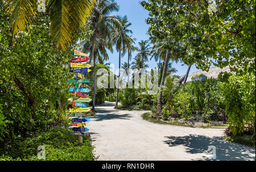
{"type": "MultiPolygon", "coordinates": [[[[70,53],[77,38],[86,37],[82,27],[67,51],[58,51],[50,41],[49,18],[38,14],[27,29],[13,41],[10,15],[0,8],[0,104],[8,121],[1,132],[1,146],[22,139],[31,132],[56,125],[67,126],[70,53]]],[[[5,120],[5,121],[6,121],[5,120]]]]}

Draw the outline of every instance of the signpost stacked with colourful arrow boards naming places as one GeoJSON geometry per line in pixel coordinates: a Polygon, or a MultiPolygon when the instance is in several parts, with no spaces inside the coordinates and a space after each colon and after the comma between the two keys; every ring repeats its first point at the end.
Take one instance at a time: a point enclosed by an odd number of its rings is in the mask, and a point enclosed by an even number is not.
{"type": "Polygon", "coordinates": [[[71,119],[71,127],[72,130],[75,132],[71,132],[71,135],[77,135],[79,136],[79,144],[82,143],[82,136],[88,136],[88,133],[85,133],[89,131],[88,128],[85,128],[85,126],[90,122],[91,120],[89,118],[83,118],[86,116],[86,113],[90,111],[89,108],[86,108],[89,106],[89,102],[92,101],[92,99],[88,98],[88,94],[91,91],[91,89],[83,88],[86,86],[86,84],[90,83],[90,79],[85,79],[84,74],[92,71],[89,68],[92,67],[89,64],[81,64],[79,62],[87,62],[89,60],[88,54],[82,53],[80,51],[74,50],[72,52],[73,55],[81,56],[79,58],[73,58],[69,62],[71,62],[70,67],[75,68],[73,70],[69,70],[71,74],[76,74],[75,79],[69,79],[69,83],[75,84],[78,88],[69,88],[70,93],[75,94],[75,98],[71,98],[72,101],[72,109],[69,109],[69,112],[72,113],[71,119]]]}

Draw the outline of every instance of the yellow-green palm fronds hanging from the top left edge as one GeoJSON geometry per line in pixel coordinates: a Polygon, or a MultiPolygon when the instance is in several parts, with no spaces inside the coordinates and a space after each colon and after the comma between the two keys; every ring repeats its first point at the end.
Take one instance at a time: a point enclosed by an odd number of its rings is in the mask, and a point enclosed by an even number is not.
{"type": "MultiPolygon", "coordinates": [[[[13,38],[19,31],[26,31],[27,25],[35,19],[37,0],[7,0],[3,2],[6,11],[10,13],[11,30],[13,38]]],[[[58,49],[66,49],[66,45],[72,41],[72,35],[85,24],[92,12],[96,0],[48,0],[46,1],[46,13],[49,15],[49,34],[58,49]]]]}

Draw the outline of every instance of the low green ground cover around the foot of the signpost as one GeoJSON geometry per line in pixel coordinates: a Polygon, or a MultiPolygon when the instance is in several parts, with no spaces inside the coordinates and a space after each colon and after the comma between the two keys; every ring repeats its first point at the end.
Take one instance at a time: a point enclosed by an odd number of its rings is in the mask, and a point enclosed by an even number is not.
{"type": "Polygon", "coordinates": [[[22,160],[39,161],[38,147],[45,147],[45,161],[93,161],[93,147],[89,137],[82,136],[82,144],[78,144],[78,136],[73,136],[73,132],[66,128],[51,128],[47,132],[41,132],[27,138],[22,142],[10,145],[5,149],[5,153],[0,155],[0,161],[22,160]]]}

